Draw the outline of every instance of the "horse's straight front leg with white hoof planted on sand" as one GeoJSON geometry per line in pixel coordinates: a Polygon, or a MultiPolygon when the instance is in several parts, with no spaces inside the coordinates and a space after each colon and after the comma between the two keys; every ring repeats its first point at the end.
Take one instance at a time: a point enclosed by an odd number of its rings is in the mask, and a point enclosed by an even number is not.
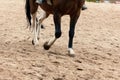
{"type": "Polygon", "coordinates": [[[73,50],[73,37],[74,37],[74,31],[75,31],[75,25],[76,22],[79,18],[80,15],[80,11],[78,11],[78,13],[74,14],[74,15],[70,15],[70,30],[69,30],[69,43],[68,43],[68,52],[69,55],[74,57],[75,56],[75,52],[73,50]]]}

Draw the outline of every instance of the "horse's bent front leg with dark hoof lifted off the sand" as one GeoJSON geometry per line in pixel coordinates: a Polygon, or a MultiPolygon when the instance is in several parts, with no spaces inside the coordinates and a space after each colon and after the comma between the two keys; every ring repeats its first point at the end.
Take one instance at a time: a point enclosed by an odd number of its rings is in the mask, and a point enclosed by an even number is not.
{"type": "Polygon", "coordinates": [[[55,37],[45,42],[44,49],[48,50],[54,42],[61,36],[61,15],[55,13],[54,14],[54,23],[55,23],[55,37]]]}

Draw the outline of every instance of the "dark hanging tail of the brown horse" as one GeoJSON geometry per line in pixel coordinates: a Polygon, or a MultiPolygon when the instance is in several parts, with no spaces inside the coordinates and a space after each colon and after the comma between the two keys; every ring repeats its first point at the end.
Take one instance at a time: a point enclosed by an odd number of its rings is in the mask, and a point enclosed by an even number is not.
{"type": "Polygon", "coordinates": [[[26,19],[31,26],[30,0],[26,0],[25,12],[26,12],[26,19]]]}

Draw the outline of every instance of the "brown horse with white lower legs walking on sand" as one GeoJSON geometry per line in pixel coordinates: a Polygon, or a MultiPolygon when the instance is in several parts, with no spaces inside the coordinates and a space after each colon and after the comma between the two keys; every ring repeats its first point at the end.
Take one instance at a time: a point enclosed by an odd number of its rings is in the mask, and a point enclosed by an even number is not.
{"type": "Polygon", "coordinates": [[[70,16],[70,30],[69,30],[69,43],[68,43],[68,52],[70,56],[74,56],[73,51],[73,37],[75,31],[75,25],[79,18],[81,8],[85,0],[45,0],[43,4],[37,4],[36,0],[26,0],[26,17],[31,25],[31,15],[33,18],[33,30],[34,38],[33,44],[38,44],[39,31],[42,21],[53,14],[54,24],[55,24],[55,37],[44,44],[44,49],[48,50],[52,44],[61,36],[61,17],[63,15],[70,16]],[[38,7],[43,9],[42,15],[37,19],[36,12],[38,7]]]}

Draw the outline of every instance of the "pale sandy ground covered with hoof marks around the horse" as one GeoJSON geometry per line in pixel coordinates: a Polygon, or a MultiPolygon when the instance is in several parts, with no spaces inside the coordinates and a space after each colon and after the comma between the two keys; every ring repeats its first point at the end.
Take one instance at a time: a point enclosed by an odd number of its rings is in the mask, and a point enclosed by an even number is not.
{"type": "Polygon", "coordinates": [[[69,17],[62,18],[62,37],[50,50],[52,15],[43,24],[40,46],[31,44],[24,0],[0,0],[0,80],[120,80],[120,5],[86,3],[76,25],[74,50],[68,56],[69,17]]]}

